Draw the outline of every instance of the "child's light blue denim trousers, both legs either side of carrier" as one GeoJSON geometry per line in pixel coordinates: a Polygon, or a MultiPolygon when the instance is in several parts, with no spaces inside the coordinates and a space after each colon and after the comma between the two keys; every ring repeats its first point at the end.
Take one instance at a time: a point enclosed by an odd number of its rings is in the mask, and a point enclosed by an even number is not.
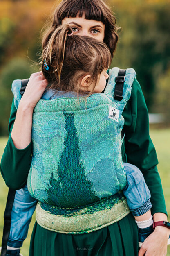
{"type": "MultiPolygon", "coordinates": [[[[150,191],[145,184],[141,171],[134,165],[123,163],[127,174],[127,186],[123,193],[127,199],[128,206],[134,216],[147,212],[150,203],[150,191]]],[[[15,200],[11,213],[11,229],[8,245],[14,248],[21,247],[27,237],[29,223],[35,211],[37,200],[29,195],[27,185],[16,190],[15,200]]]]}

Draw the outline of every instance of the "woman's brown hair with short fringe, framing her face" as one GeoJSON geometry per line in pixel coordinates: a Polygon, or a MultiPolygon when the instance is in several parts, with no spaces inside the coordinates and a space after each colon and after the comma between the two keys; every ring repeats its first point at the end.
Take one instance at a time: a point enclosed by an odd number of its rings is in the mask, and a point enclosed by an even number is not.
{"type": "Polygon", "coordinates": [[[77,14],[79,17],[85,14],[87,20],[101,21],[105,25],[103,42],[110,49],[113,58],[118,41],[118,34],[116,33],[118,27],[111,9],[102,0],[63,0],[54,11],[51,28],[47,30],[43,38],[43,48],[47,45],[56,28],[62,24],[62,20],[65,17],[74,18],[77,14]]]}

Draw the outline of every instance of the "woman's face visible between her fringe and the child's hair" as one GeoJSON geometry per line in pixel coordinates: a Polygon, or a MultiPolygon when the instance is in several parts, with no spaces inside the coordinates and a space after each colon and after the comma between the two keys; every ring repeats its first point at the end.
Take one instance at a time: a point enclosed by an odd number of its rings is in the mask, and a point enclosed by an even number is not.
{"type": "Polygon", "coordinates": [[[78,36],[91,36],[101,42],[105,36],[105,25],[101,21],[86,20],[85,14],[82,17],[67,18],[62,20],[62,25],[68,24],[74,35],[78,36]]]}

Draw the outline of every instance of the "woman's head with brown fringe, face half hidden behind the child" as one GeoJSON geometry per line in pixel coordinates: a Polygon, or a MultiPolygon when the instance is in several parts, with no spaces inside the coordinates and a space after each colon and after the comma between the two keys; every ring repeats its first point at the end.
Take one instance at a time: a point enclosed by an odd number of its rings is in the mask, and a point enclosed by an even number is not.
{"type": "Polygon", "coordinates": [[[118,41],[116,19],[102,0],[63,0],[54,11],[51,28],[43,38],[43,48],[56,28],[63,24],[69,24],[76,35],[105,42],[113,57],[118,41]]]}

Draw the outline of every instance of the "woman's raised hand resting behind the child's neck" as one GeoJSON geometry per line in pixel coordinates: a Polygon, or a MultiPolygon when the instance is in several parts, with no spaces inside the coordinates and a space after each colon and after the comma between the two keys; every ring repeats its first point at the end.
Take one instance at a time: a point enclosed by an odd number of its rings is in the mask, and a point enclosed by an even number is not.
{"type": "Polygon", "coordinates": [[[31,74],[20,103],[23,104],[24,102],[24,105],[34,109],[47,85],[48,82],[42,74],[42,71],[31,74]]]}

